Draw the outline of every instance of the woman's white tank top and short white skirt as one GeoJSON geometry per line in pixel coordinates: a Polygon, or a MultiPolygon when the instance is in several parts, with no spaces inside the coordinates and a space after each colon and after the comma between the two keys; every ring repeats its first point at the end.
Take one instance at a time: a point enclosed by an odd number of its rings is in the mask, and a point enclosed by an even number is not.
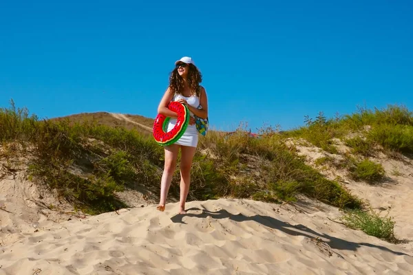
{"type": "MultiPolygon", "coordinates": [[[[186,97],[186,96],[182,96],[181,94],[175,94],[172,98],[172,101],[177,101],[180,98],[184,98],[184,100],[187,100],[188,104],[194,108],[198,108],[198,106],[200,105],[200,98],[198,98],[198,96],[196,95],[186,97]]],[[[193,117],[193,113],[191,111],[189,111],[189,115],[193,117]]],[[[175,126],[175,124],[176,124],[176,118],[171,118],[171,120],[169,120],[167,131],[168,132],[171,131],[173,129],[173,126],[175,126]]],[[[180,137],[180,139],[174,144],[196,147],[198,145],[198,130],[196,129],[195,124],[193,125],[188,124],[187,130],[185,130],[182,137],[180,137]]]]}

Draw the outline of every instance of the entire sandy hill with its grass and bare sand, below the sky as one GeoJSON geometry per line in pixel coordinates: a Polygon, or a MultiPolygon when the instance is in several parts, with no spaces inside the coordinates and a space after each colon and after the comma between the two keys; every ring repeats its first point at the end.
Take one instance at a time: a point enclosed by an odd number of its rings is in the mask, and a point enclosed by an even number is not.
{"type": "Polygon", "coordinates": [[[408,150],[346,138],[320,143],[321,128],[299,132],[306,139],[211,133],[194,159],[188,214],[177,215],[177,184],[165,212],[156,211],[162,148],[140,137],[150,121],[110,113],[70,119],[91,117],[103,126],[41,122],[31,129],[37,122],[8,118],[14,123],[3,130],[13,131],[0,146],[0,275],[413,272],[408,150]],[[14,127],[18,121],[23,126],[14,127]],[[113,127],[118,121],[123,126],[113,127]],[[369,209],[377,219],[365,215],[369,209]],[[352,211],[360,229],[343,219],[352,211]]]}

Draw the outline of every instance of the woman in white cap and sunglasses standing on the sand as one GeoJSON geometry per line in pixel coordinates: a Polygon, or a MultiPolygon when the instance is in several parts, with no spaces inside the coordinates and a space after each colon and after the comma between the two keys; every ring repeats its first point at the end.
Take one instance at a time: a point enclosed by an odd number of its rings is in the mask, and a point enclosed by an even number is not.
{"type": "Polygon", "coordinates": [[[167,131],[171,131],[176,123],[177,114],[168,109],[171,101],[178,101],[187,105],[190,112],[189,125],[180,139],[169,146],[165,146],[165,168],[160,183],[160,201],[158,210],[165,210],[165,203],[169,186],[171,186],[172,176],[176,168],[178,151],[181,151],[180,160],[180,201],[178,214],[186,214],[185,202],[189,192],[191,176],[191,166],[193,155],[195,155],[198,145],[198,131],[195,126],[193,115],[200,118],[208,117],[208,100],[204,87],[200,86],[202,75],[195,66],[192,58],[184,56],[176,61],[175,68],[169,76],[169,87],[165,95],[160,100],[158,113],[170,117],[167,131]],[[201,105],[202,109],[198,109],[201,105]]]}

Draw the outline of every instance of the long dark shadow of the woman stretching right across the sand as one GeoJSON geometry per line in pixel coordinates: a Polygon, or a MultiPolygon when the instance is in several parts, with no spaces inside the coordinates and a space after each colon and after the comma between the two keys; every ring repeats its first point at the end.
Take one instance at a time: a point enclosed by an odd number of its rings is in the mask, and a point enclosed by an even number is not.
{"type": "MultiPolygon", "coordinates": [[[[191,211],[191,210],[201,210],[201,209],[200,208],[189,208],[187,211],[191,211]]],[[[318,236],[320,238],[327,239],[328,241],[324,241],[324,242],[327,243],[330,246],[330,248],[336,249],[336,250],[356,251],[357,248],[361,248],[361,246],[367,246],[370,248],[377,248],[379,250],[391,252],[399,256],[405,255],[405,256],[413,257],[412,255],[405,254],[403,252],[393,251],[381,245],[373,245],[371,243],[354,243],[352,241],[346,241],[343,239],[339,239],[334,236],[330,236],[328,234],[320,234],[318,232],[315,232],[314,230],[311,230],[310,228],[307,228],[304,225],[301,225],[301,224],[290,225],[290,223],[279,221],[269,216],[254,215],[254,216],[248,217],[248,216],[244,216],[243,214],[231,214],[224,209],[216,211],[216,212],[211,212],[211,211],[202,209],[202,213],[200,214],[193,214],[189,212],[187,214],[177,214],[176,216],[171,217],[171,221],[173,221],[174,223],[187,224],[184,221],[182,221],[183,217],[195,217],[195,218],[201,218],[201,219],[211,217],[213,219],[231,219],[237,222],[255,221],[257,223],[267,226],[268,228],[273,228],[275,230],[281,230],[282,232],[286,234],[290,234],[292,236],[306,236],[309,239],[314,239],[314,238],[317,238],[318,236]]]]}

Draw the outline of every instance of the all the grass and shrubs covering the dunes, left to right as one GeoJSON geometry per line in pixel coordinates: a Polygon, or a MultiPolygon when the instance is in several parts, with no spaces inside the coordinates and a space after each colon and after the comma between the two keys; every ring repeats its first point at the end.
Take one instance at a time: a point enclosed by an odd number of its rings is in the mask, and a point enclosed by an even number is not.
{"type": "MultiPolygon", "coordinates": [[[[137,124],[106,112],[41,121],[12,102],[10,108],[0,109],[1,155],[12,159],[14,148],[23,155],[31,154],[30,177],[58,190],[61,197],[86,212],[116,210],[125,207],[116,196],[124,188],[158,195],[163,168],[163,148],[147,129],[151,129],[153,119],[125,116],[137,124]]],[[[304,194],[332,206],[357,210],[357,216],[351,217],[363,218],[372,231],[376,230],[376,225],[370,226],[373,223],[366,218],[370,217],[367,212],[360,210],[361,199],[306,165],[289,141],[306,140],[341,154],[340,168],[347,169],[356,180],[375,182],[383,177],[383,168],[367,160],[354,162],[354,155],[365,159],[377,150],[393,156],[411,153],[412,113],[389,107],[330,120],[320,113],[314,121],[306,118],[306,123],[293,131],[267,127],[257,138],[242,127],[233,133],[209,131],[206,137],[200,137],[200,150],[194,157],[189,199],[237,197],[282,202],[295,201],[298,194],[304,194]],[[354,133],[357,137],[348,138],[354,133]],[[352,148],[353,155],[337,150],[333,142],[337,138],[352,148]]],[[[321,157],[315,164],[325,166],[333,160],[321,157]]],[[[176,184],[172,184],[170,194],[178,198],[178,166],[173,182],[176,184]]],[[[393,225],[385,223],[386,232],[391,232],[393,225]]]]}

